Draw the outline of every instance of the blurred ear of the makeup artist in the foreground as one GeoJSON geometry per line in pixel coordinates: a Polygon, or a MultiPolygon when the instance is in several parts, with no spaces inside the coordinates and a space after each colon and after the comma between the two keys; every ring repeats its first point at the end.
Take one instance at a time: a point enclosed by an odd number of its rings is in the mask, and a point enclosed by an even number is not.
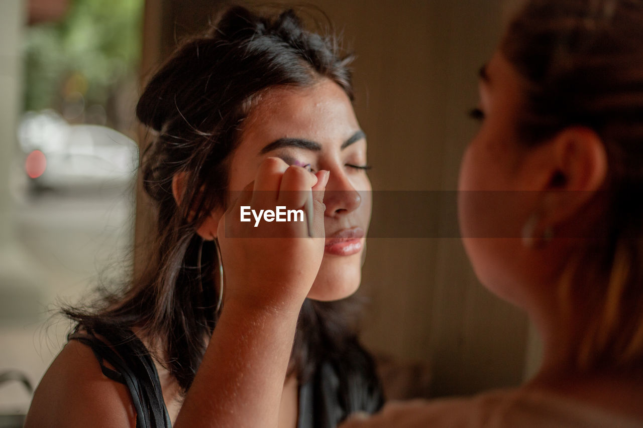
{"type": "Polygon", "coordinates": [[[548,145],[550,172],[543,208],[548,222],[556,225],[577,215],[601,190],[608,159],[601,138],[586,127],[566,128],[548,145]]]}

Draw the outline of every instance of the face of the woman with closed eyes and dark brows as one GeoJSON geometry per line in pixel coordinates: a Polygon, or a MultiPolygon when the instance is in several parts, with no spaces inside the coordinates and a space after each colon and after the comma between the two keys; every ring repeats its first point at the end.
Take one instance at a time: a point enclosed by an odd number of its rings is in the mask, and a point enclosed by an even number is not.
{"type": "Polygon", "coordinates": [[[262,94],[230,159],[231,193],[253,181],[266,157],[331,172],[323,200],[325,252],[308,297],[350,296],[361,281],[372,204],[366,138],[343,89],[323,78],[312,87],[278,87],[262,94]]]}

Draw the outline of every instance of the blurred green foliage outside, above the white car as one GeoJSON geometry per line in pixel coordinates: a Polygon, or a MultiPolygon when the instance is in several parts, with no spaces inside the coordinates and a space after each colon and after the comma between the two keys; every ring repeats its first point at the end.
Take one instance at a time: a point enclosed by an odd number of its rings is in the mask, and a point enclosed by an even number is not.
{"type": "Polygon", "coordinates": [[[73,0],[60,22],[26,29],[25,111],[56,108],[69,92],[105,105],[138,69],[144,0],[73,0]]]}

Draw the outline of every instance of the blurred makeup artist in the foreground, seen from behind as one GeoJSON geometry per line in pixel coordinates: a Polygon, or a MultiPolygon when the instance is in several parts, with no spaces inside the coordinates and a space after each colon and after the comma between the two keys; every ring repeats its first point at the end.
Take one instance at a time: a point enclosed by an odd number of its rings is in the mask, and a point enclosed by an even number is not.
{"type": "MultiPolygon", "coordinates": [[[[640,0],[527,2],[480,72],[459,217],[480,281],[538,326],[541,370],[520,388],[389,405],[343,428],[643,426],[642,64],[640,0]]],[[[230,254],[244,246],[224,241],[230,254]]],[[[298,275],[274,290],[280,314],[305,297],[298,275]]],[[[251,301],[246,284],[235,281],[241,302],[251,301]]],[[[237,310],[266,328],[244,342],[242,362],[210,353],[212,366],[251,367],[266,330],[294,334],[269,307],[237,304],[222,317],[237,310]]],[[[242,342],[235,326],[217,334],[221,347],[242,342]]],[[[210,372],[245,400],[226,400],[231,411],[212,405],[221,389],[195,383],[188,398],[207,397],[203,408],[222,422],[201,426],[275,426],[261,423],[273,419],[260,393],[279,387],[287,340],[260,359],[277,373],[210,372]]]]}

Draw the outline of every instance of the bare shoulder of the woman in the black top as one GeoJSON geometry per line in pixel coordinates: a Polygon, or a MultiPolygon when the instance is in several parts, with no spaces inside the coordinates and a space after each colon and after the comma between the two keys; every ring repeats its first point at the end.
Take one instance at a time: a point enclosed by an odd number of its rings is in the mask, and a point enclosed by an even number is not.
{"type": "Polygon", "coordinates": [[[135,427],[127,387],[103,375],[89,346],[71,340],[36,389],[26,418],[32,427],[135,427]]]}

